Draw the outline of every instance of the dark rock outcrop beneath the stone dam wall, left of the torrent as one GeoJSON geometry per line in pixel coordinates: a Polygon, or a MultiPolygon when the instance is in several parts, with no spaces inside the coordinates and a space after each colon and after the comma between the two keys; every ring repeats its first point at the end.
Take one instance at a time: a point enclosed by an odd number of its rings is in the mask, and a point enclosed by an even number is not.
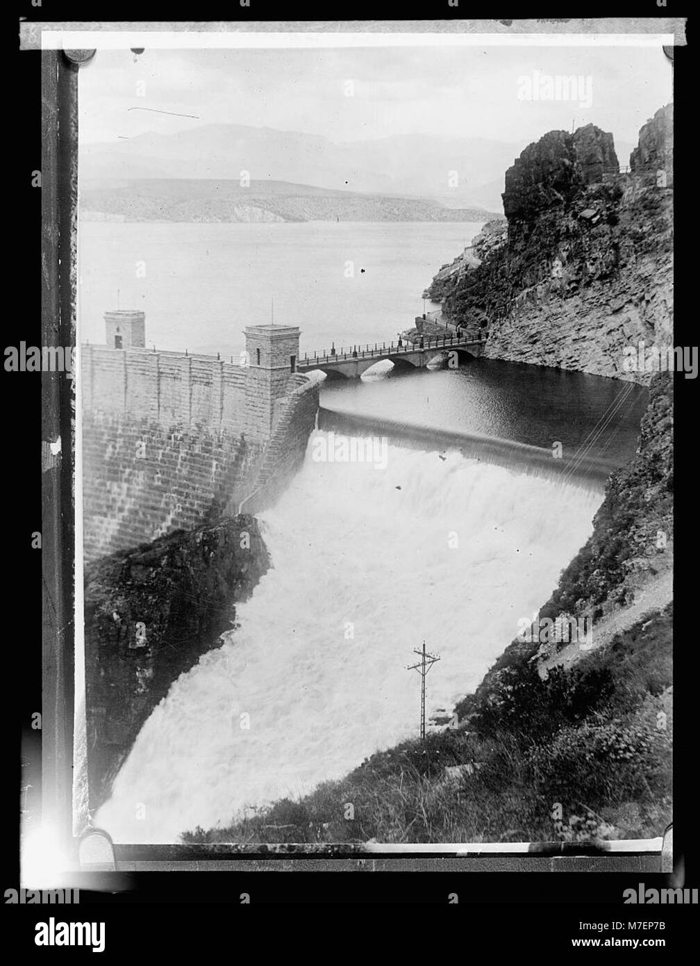
{"type": "Polygon", "coordinates": [[[91,809],[155,705],[230,631],[236,602],[268,568],[257,521],[178,530],[85,571],[85,686],[91,809]]]}

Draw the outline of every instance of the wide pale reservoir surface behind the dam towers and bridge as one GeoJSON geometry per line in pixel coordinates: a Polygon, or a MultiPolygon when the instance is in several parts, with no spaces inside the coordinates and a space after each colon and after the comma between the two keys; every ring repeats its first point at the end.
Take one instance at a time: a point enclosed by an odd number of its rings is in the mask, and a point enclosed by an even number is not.
{"type": "Polygon", "coordinates": [[[274,321],[300,327],[302,351],[392,339],[481,224],[81,222],[81,340],[104,342],[118,292],[121,308],[146,312],[159,349],[238,356],[272,299],[274,321]]]}

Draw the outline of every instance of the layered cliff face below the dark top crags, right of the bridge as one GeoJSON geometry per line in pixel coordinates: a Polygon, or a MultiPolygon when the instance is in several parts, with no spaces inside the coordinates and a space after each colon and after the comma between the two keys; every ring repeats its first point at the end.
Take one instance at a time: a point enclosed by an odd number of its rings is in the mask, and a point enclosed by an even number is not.
{"type": "Polygon", "coordinates": [[[651,381],[628,368],[625,350],[672,342],[673,197],[656,185],[633,193],[593,186],[514,246],[507,265],[523,267],[524,284],[495,307],[485,355],[651,381]],[[527,277],[538,251],[546,257],[527,277]]]}

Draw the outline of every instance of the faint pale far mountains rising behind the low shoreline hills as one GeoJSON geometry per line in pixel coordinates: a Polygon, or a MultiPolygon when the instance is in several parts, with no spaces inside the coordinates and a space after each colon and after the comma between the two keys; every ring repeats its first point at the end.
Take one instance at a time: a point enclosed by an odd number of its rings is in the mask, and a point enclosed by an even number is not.
{"type": "Polygon", "coordinates": [[[500,214],[503,174],[523,147],[420,134],[335,143],[299,131],[206,125],[82,146],[80,172],[86,190],[133,180],[238,182],[243,171],[257,183],[431,199],[500,214]]]}

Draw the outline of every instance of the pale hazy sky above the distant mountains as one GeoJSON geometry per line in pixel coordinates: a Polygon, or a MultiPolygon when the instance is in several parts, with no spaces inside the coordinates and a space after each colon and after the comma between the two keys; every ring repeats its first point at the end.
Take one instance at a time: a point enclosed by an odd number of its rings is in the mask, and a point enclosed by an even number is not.
{"type": "Polygon", "coordinates": [[[136,62],[129,51],[98,50],[79,77],[84,143],[240,124],[333,141],[425,133],[524,145],[552,128],[593,122],[635,144],[671,99],[671,66],[656,47],[147,49],[136,62]],[[519,78],[533,71],[590,77],[591,105],[518,99],[519,78]]]}

